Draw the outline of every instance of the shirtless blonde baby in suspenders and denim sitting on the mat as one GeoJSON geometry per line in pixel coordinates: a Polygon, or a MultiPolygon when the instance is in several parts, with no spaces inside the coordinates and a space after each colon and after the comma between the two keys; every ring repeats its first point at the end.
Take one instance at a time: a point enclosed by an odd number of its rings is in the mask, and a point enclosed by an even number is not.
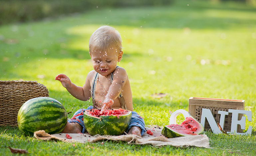
{"type": "Polygon", "coordinates": [[[133,112],[131,88],[128,75],[117,63],[123,56],[122,39],[119,32],[111,26],[101,26],[90,37],[89,54],[94,70],[89,72],[83,87],[76,86],[64,74],[56,76],[68,92],[79,100],[87,101],[92,97],[93,106],[79,109],[68,120],[64,133],[85,133],[83,112],[88,109],[127,109],[132,111],[128,134],[143,135],[144,120],[133,112]]]}

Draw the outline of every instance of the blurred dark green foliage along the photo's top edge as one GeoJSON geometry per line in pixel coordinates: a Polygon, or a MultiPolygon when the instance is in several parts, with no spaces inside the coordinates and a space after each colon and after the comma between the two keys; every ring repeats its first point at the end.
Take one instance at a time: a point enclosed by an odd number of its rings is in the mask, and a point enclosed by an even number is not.
{"type": "MultiPolygon", "coordinates": [[[[213,3],[230,0],[210,0],[213,3]]],[[[256,6],[256,0],[233,0],[256,6]]],[[[56,18],[96,8],[171,5],[174,0],[0,0],[0,25],[56,18]]]]}

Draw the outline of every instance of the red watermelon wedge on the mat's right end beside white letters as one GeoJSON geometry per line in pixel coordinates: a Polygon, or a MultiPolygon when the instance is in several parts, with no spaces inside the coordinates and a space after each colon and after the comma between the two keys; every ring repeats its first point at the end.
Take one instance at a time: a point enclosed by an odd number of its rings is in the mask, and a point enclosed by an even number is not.
{"type": "Polygon", "coordinates": [[[192,116],[187,117],[180,125],[171,124],[163,128],[161,134],[167,138],[198,135],[203,132],[203,126],[192,116]]]}

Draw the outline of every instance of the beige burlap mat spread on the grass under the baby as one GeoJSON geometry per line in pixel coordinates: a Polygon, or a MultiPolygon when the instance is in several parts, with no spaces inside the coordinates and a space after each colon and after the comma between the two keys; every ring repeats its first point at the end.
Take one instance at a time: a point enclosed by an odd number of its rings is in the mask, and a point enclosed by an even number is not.
{"type": "Polygon", "coordinates": [[[193,136],[183,136],[176,138],[166,138],[161,135],[162,128],[155,125],[146,125],[146,130],[150,130],[153,132],[153,135],[149,135],[147,133],[143,134],[142,137],[137,135],[129,134],[129,135],[119,135],[119,136],[111,136],[111,135],[95,135],[92,136],[89,133],[68,133],[72,138],[68,139],[66,137],[67,133],[59,133],[59,134],[48,134],[44,130],[39,130],[34,133],[34,136],[37,139],[41,140],[61,140],[67,142],[96,142],[100,140],[115,140],[115,141],[126,141],[128,143],[135,144],[151,144],[153,146],[164,146],[171,145],[174,147],[188,147],[188,146],[197,146],[197,147],[205,147],[210,148],[209,138],[203,135],[193,135],[193,136]]]}

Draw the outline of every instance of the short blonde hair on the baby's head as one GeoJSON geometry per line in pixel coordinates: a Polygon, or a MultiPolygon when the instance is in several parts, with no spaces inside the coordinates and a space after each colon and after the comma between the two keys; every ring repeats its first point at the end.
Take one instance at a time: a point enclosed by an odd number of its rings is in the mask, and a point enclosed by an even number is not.
{"type": "Polygon", "coordinates": [[[92,50],[106,50],[117,48],[122,50],[122,39],[120,33],[111,26],[101,26],[91,35],[89,40],[89,52],[92,50]]]}

